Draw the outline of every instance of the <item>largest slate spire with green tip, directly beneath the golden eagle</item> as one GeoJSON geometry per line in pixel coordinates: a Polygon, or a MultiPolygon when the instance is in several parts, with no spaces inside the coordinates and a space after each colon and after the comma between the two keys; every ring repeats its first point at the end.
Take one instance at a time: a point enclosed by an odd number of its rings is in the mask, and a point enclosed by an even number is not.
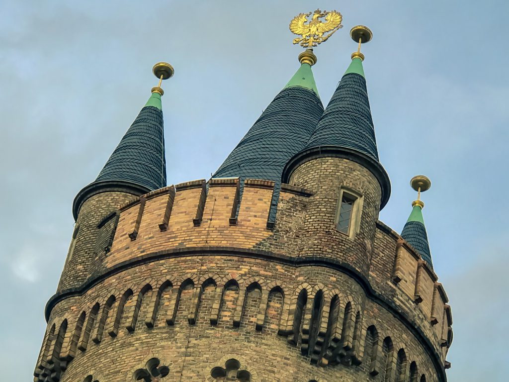
{"type": "Polygon", "coordinates": [[[224,160],[214,178],[280,182],[282,169],[305,146],[323,113],[311,70],[316,56],[308,49],[299,60],[301,66],[295,75],[224,160]]]}

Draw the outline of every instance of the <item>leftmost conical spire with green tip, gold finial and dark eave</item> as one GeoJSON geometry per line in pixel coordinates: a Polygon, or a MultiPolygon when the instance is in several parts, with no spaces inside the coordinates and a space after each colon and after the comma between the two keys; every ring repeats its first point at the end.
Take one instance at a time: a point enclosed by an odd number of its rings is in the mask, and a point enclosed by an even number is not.
{"type": "Polygon", "coordinates": [[[152,88],[146,105],[122,137],[106,161],[96,180],[84,187],[73,203],[74,218],[79,208],[91,196],[108,190],[142,195],[166,185],[164,129],[161,106],[161,80],[173,75],[166,63],[154,66],[159,85],[152,88]]]}

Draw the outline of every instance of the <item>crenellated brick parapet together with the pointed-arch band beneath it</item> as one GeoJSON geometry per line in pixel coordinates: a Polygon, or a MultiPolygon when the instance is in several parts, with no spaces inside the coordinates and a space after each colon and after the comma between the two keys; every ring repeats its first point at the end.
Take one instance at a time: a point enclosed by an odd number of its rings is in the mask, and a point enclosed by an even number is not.
{"type": "MultiPolygon", "coordinates": [[[[310,365],[346,365],[372,376],[407,365],[402,360],[410,367],[416,350],[403,344],[416,338],[427,349],[416,365],[443,370],[452,340],[447,296],[411,245],[377,222],[366,277],[341,249],[307,252],[306,224],[316,215],[308,206],[316,193],[281,185],[272,226],[273,194],[271,181],[247,179],[241,189],[237,178],[197,180],[105,213],[87,281],[48,303],[37,380],[62,373],[104,341],[200,322],[234,331],[250,322],[252,333],[286,338],[310,365]],[[257,305],[249,308],[253,293],[257,305]]],[[[334,208],[337,198],[326,205],[334,208]]],[[[333,223],[322,230],[334,230],[333,223]]],[[[341,248],[346,239],[337,240],[341,248]]]]}

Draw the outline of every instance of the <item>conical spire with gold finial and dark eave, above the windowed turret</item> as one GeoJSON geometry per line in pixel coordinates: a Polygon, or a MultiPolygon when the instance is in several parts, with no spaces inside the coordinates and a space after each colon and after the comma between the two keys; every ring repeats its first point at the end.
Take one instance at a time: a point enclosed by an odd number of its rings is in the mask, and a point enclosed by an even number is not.
{"type": "MultiPolygon", "coordinates": [[[[371,40],[369,29],[365,26],[355,28],[352,29],[351,35],[359,42],[359,46],[361,42],[371,40]]],[[[390,182],[378,159],[375,128],[362,67],[363,59],[364,55],[360,50],[352,54],[352,63],[338,84],[305,148],[286,166],[283,181],[288,181],[293,169],[306,158],[317,155],[346,157],[361,163],[377,177],[382,188],[381,208],[383,208],[389,199],[390,182]]]]}

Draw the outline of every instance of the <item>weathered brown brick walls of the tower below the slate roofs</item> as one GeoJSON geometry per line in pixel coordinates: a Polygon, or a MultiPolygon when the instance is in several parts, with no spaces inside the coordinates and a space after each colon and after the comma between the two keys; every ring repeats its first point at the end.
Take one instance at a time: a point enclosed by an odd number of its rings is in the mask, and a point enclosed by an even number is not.
{"type": "Polygon", "coordinates": [[[151,372],[152,358],[169,367],[161,381],[227,380],[217,370],[244,370],[251,381],[399,381],[416,367],[418,378],[443,380],[452,320],[445,292],[377,221],[373,175],[321,158],[291,183],[272,229],[267,181],[245,182],[236,220],[235,180],[212,182],[203,205],[200,181],[176,185],[175,195],[166,187],[134,201],[89,199],[59,284],[68,293],[49,303],[36,380],[133,380],[151,372]],[[335,230],[340,187],[363,199],[353,238],[335,230]],[[97,228],[117,209],[116,227],[97,228]],[[100,251],[112,235],[110,251],[100,251]]]}

